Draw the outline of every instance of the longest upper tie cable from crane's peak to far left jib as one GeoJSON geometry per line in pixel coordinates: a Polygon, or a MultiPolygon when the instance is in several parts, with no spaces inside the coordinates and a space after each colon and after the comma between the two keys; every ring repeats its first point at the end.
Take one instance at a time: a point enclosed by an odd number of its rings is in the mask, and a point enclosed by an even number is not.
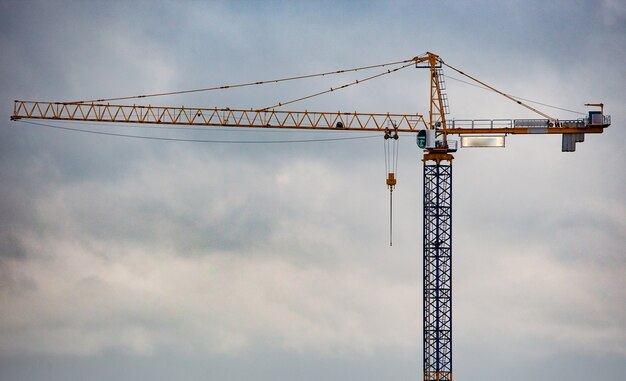
{"type": "Polygon", "coordinates": [[[376,65],[369,65],[369,66],[361,66],[361,67],[356,67],[356,68],[351,68],[351,69],[341,69],[341,70],[335,70],[335,71],[327,71],[327,72],[316,73],[316,74],[299,75],[299,76],[295,76],[295,77],[285,77],[285,78],[278,78],[278,79],[270,79],[270,80],[265,80],[265,81],[244,82],[244,83],[238,83],[238,84],[234,84],[234,85],[213,86],[213,87],[205,87],[205,88],[192,89],[192,90],[167,91],[167,92],[144,94],[144,95],[130,95],[130,96],[114,97],[114,98],[81,100],[81,101],[65,102],[65,104],[109,102],[109,101],[120,101],[120,100],[138,99],[138,98],[161,97],[161,96],[166,96],[166,95],[180,95],[180,94],[189,94],[189,93],[199,93],[199,92],[213,91],[213,90],[226,90],[226,89],[234,89],[234,88],[237,88],[237,87],[266,85],[266,84],[269,84],[269,83],[280,83],[280,82],[294,81],[294,80],[299,80],[299,79],[323,77],[323,76],[326,76],[326,75],[334,75],[334,74],[343,74],[343,73],[349,73],[349,72],[356,72],[356,71],[361,71],[361,70],[374,69],[374,68],[378,68],[378,67],[398,65],[398,64],[403,64],[403,63],[407,63],[407,62],[413,62],[413,59],[402,60],[402,61],[394,61],[394,62],[387,62],[387,63],[376,64],[376,65]]]}

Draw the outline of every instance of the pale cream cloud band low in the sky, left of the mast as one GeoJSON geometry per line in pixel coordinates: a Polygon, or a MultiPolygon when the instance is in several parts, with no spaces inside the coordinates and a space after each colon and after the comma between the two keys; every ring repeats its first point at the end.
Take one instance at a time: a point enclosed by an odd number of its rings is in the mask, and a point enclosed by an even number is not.
{"type": "Polygon", "coordinates": [[[19,298],[5,293],[5,354],[416,349],[418,308],[407,306],[416,284],[389,282],[373,269],[137,248],[113,261],[58,241],[45,250],[51,257],[10,264],[13,282],[30,286],[19,298]]]}

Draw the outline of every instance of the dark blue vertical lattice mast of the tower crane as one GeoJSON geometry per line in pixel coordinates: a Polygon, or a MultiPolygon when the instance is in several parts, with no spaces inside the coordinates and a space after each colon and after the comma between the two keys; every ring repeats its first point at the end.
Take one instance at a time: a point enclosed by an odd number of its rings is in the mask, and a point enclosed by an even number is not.
{"type": "Polygon", "coordinates": [[[452,380],[452,156],[424,155],[424,381],[452,380]]]}

